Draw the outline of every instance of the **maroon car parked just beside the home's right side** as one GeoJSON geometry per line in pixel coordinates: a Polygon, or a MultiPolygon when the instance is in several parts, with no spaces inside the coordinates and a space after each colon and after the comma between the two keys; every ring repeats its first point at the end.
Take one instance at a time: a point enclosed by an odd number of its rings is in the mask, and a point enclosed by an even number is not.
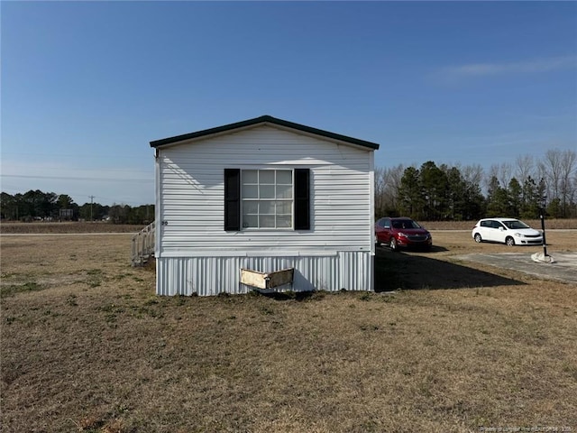
{"type": "Polygon", "coordinates": [[[433,237],[411,218],[380,218],[375,223],[377,245],[388,245],[391,251],[399,248],[421,248],[430,250],[433,237]]]}

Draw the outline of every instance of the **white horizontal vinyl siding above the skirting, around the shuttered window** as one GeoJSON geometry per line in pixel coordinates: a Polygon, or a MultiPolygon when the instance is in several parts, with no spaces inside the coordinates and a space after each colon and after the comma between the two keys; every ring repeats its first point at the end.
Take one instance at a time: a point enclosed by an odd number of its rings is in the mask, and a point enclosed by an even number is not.
{"type": "Polygon", "coordinates": [[[157,257],[372,251],[373,152],[270,126],[163,148],[157,257]],[[224,169],[310,169],[311,226],[224,231],[224,169]]]}

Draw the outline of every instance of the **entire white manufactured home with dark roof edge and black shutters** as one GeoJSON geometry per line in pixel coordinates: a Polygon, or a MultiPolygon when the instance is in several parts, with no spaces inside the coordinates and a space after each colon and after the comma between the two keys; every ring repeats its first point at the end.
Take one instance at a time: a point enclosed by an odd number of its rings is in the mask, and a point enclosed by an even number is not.
{"type": "Polygon", "coordinates": [[[156,290],[373,290],[379,144],[263,115],[150,143],[156,290]]]}

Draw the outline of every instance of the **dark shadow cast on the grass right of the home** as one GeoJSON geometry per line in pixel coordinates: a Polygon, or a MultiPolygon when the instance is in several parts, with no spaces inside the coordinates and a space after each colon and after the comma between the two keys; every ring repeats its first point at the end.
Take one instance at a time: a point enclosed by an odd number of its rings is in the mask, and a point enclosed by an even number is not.
{"type": "MultiPolygon", "coordinates": [[[[432,250],[431,253],[435,253],[432,250]]],[[[393,253],[377,248],[375,255],[375,291],[417,289],[466,289],[524,285],[500,275],[467,266],[408,253],[393,253]]]]}

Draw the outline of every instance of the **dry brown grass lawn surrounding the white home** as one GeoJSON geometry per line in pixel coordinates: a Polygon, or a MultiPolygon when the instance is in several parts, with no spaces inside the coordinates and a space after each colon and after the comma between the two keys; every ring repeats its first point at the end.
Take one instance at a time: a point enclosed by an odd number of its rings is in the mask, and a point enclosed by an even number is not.
{"type": "Polygon", "coordinates": [[[214,298],[156,297],[130,235],[2,236],[2,430],[576,431],[575,286],[434,236],[379,250],[380,293],[214,298]]]}

